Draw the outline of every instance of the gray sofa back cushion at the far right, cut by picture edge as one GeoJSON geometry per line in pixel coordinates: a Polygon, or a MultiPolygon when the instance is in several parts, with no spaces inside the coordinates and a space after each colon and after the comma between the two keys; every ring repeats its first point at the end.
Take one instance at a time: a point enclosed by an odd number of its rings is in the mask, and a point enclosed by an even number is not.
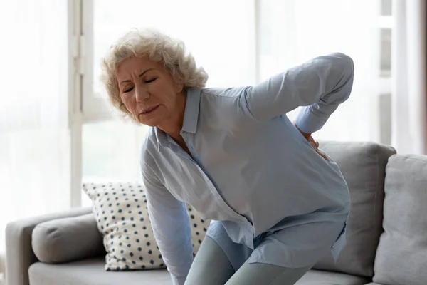
{"type": "Polygon", "coordinates": [[[390,158],[383,227],[374,281],[389,285],[427,284],[427,156],[390,158]]]}

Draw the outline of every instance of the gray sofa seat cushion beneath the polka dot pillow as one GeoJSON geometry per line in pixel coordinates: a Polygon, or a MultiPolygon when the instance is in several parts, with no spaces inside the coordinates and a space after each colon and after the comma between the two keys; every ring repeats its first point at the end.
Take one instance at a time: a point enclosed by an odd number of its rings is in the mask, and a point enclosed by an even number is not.
{"type": "Polygon", "coordinates": [[[31,285],[172,285],[166,269],[105,271],[104,266],[104,257],[65,264],[36,262],[28,269],[28,275],[31,285]]]}

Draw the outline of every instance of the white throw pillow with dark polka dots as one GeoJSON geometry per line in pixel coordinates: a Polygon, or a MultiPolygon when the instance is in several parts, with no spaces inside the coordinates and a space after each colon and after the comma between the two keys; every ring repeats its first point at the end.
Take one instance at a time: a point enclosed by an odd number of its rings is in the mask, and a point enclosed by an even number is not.
{"type": "MultiPolygon", "coordinates": [[[[144,187],[138,183],[84,183],[83,191],[93,202],[97,227],[103,236],[105,270],[125,271],[164,268],[147,211],[144,187]]],[[[194,254],[199,250],[209,221],[190,206],[194,254]]]]}

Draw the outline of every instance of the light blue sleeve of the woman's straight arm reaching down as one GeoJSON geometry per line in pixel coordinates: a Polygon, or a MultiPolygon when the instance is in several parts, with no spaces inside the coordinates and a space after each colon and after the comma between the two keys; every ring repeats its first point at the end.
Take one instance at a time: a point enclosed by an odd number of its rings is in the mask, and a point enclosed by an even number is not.
{"type": "Polygon", "coordinates": [[[193,262],[191,227],[186,205],[162,185],[154,173],[142,170],[154,238],[174,285],[183,285],[193,262]]]}

